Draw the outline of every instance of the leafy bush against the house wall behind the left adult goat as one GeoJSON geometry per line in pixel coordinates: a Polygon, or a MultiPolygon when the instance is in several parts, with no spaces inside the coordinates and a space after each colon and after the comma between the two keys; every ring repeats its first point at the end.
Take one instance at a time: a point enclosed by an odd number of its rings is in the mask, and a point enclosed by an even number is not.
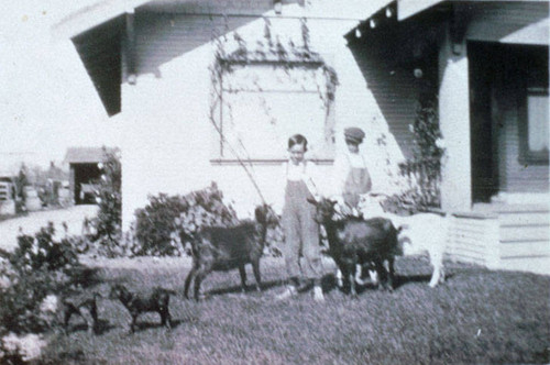
{"type": "Polygon", "coordinates": [[[222,201],[223,195],[210,187],[186,196],[161,193],[135,212],[136,255],[178,255],[184,244],[202,226],[230,226],[239,221],[234,210],[222,201]]]}

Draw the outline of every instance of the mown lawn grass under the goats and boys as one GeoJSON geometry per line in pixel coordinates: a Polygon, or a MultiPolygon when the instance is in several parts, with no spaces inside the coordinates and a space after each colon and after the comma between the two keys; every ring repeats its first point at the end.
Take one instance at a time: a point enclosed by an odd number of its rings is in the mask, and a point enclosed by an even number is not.
{"type": "MultiPolygon", "coordinates": [[[[350,299],[324,283],[327,300],[310,294],[275,301],[283,289],[282,259],[263,261],[266,290],[242,295],[238,272],[207,277],[201,302],[185,300],[189,259],[105,263],[97,289],[122,281],[133,290],[175,289],[170,331],[157,314],[130,316],[101,299],[102,333],[73,321],[68,336],[53,335],[51,364],[531,364],[549,363],[550,278],[449,264],[448,281],[428,287],[424,258],[400,258],[394,292],[364,289],[350,299]]],[[[328,265],[326,265],[328,266],[328,265]]],[[[326,267],[331,273],[331,267],[326,267]]],[[[249,270],[250,273],[250,270],[249,270]]],[[[250,273],[251,274],[251,273],[250,273]]],[[[250,275],[249,283],[253,281],[250,275]]]]}

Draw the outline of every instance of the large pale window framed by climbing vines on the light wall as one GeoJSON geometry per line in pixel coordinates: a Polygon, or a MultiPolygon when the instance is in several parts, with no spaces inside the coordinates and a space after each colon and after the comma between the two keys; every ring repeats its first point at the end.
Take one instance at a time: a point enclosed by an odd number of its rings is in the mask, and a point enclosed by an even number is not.
{"type": "Polygon", "coordinates": [[[309,158],[333,158],[333,107],[326,97],[324,69],[317,63],[286,66],[235,64],[222,74],[212,162],[285,159],[287,140],[296,133],[308,139],[309,158]]]}

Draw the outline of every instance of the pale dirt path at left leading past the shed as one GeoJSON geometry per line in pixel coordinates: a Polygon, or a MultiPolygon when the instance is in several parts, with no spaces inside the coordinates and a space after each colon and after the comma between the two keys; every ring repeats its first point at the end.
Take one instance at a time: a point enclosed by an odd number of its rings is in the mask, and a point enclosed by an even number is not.
{"type": "Polygon", "coordinates": [[[16,245],[19,228],[26,234],[34,234],[47,222],[53,222],[56,229],[56,236],[65,234],[62,223],[66,222],[69,234],[80,234],[82,221],[86,217],[96,215],[97,206],[75,206],[66,209],[31,212],[26,217],[9,219],[0,222],[0,247],[12,250],[16,245]]]}

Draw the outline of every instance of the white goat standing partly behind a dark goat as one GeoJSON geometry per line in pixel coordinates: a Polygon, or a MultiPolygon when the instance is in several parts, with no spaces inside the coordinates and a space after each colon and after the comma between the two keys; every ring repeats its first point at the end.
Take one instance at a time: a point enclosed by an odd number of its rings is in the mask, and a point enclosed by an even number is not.
{"type": "Polygon", "coordinates": [[[430,264],[433,266],[430,288],[444,281],[443,255],[447,250],[449,220],[436,213],[417,213],[413,215],[397,215],[384,211],[382,200],[387,196],[383,193],[366,197],[365,209],[370,217],[384,217],[391,219],[400,228],[398,240],[403,244],[405,256],[428,253],[430,264]]]}

